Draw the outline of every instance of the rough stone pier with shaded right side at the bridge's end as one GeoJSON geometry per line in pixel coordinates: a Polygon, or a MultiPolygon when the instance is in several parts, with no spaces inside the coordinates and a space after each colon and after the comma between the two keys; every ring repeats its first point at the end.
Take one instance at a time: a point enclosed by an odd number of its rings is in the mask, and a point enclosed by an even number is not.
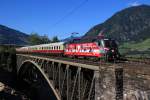
{"type": "Polygon", "coordinates": [[[95,71],[95,100],[123,100],[122,67],[100,67],[95,71]]]}

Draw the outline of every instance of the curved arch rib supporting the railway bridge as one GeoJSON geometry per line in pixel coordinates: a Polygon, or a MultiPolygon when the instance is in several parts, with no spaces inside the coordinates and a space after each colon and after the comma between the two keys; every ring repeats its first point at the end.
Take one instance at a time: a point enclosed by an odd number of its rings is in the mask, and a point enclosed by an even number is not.
{"type": "MultiPolygon", "coordinates": [[[[60,96],[58,95],[58,93],[56,92],[55,88],[53,87],[52,83],[50,82],[49,78],[47,77],[47,75],[45,74],[45,72],[42,70],[42,68],[35,63],[34,61],[31,60],[25,60],[18,68],[18,77],[19,78],[23,78],[23,76],[26,74],[27,71],[31,71],[31,73],[34,74],[34,71],[38,70],[38,72],[40,72],[40,74],[43,76],[44,80],[46,80],[48,86],[50,87],[50,89],[52,90],[53,94],[55,95],[55,99],[56,100],[61,100],[60,96]],[[32,69],[32,70],[30,70],[32,69]]],[[[35,73],[34,76],[31,76],[32,78],[38,78],[37,73],[35,73]]],[[[33,81],[36,81],[33,79],[33,81]]]]}

